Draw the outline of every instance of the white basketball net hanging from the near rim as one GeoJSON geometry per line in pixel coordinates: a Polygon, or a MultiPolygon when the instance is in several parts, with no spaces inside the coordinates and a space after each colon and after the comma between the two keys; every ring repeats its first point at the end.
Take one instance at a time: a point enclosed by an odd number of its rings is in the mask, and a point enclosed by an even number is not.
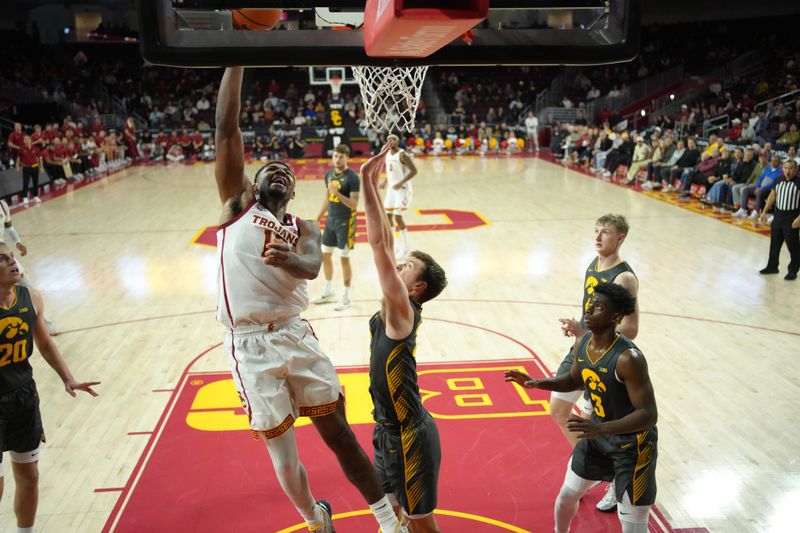
{"type": "Polygon", "coordinates": [[[428,67],[353,67],[367,126],[377,131],[413,131],[428,67]]]}

